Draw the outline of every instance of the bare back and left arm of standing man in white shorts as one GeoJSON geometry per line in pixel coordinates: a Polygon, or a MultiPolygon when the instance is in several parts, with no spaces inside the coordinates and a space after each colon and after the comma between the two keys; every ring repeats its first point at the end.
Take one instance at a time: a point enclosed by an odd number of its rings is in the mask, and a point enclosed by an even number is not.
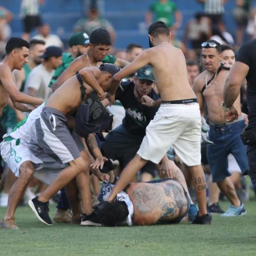
{"type": "Polygon", "coordinates": [[[120,79],[146,64],[150,64],[153,69],[162,101],[196,98],[187,79],[185,57],[180,49],[168,42],[162,42],[158,46],[144,50],[131,64],[118,72],[118,76],[114,77],[116,82],[110,94],[115,92],[120,79]]]}

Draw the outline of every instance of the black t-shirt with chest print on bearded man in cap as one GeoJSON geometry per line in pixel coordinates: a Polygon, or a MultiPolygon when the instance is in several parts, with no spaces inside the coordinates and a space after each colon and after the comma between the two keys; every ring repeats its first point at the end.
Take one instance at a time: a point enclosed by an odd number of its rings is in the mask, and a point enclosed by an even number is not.
{"type": "MultiPolygon", "coordinates": [[[[123,126],[130,133],[142,134],[146,133],[146,127],[151,119],[154,118],[158,108],[148,108],[138,102],[134,96],[134,82],[121,82],[116,93],[116,100],[121,101],[125,108],[125,118],[123,118],[123,126]]],[[[159,99],[159,95],[154,89],[148,94],[154,101],[159,99]]]]}

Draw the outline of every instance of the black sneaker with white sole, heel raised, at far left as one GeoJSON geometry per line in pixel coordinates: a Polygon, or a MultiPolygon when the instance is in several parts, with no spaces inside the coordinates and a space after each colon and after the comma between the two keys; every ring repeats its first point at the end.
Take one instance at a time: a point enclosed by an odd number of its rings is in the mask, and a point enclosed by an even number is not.
{"type": "Polygon", "coordinates": [[[38,220],[42,221],[44,224],[51,226],[53,225],[51,218],[49,217],[49,202],[42,203],[38,201],[38,196],[28,201],[28,205],[32,209],[32,211],[38,217],[38,220]]]}

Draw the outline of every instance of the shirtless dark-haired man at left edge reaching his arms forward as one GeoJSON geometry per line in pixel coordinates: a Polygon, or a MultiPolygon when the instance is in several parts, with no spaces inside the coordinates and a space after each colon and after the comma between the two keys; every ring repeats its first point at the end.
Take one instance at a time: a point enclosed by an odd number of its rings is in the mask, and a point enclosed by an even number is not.
{"type": "MultiPolygon", "coordinates": [[[[43,100],[28,96],[19,91],[15,85],[14,76],[12,72],[14,69],[22,69],[28,62],[28,48],[29,44],[22,38],[10,38],[6,43],[6,56],[0,63],[0,117],[3,108],[7,105],[9,96],[14,104],[14,107],[23,112],[31,111],[33,108],[26,104],[40,105],[43,100]]],[[[0,131],[2,126],[0,124],[0,131]]],[[[3,134],[0,134],[0,142],[3,134]]],[[[0,179],[2,175],[1,157],[0,157],[0,179]]]]}

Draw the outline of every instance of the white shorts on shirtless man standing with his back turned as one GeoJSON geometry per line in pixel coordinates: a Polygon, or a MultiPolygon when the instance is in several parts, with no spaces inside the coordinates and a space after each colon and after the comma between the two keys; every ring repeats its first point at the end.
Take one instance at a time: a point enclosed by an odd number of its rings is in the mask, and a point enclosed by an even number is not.
{"type": "Polygon", "coordinates": [[[199,104],[161,105],[146,128],[137,154],[159,163],[171,146],[187,166],[201,164],[201,115],[199,104]]]}

